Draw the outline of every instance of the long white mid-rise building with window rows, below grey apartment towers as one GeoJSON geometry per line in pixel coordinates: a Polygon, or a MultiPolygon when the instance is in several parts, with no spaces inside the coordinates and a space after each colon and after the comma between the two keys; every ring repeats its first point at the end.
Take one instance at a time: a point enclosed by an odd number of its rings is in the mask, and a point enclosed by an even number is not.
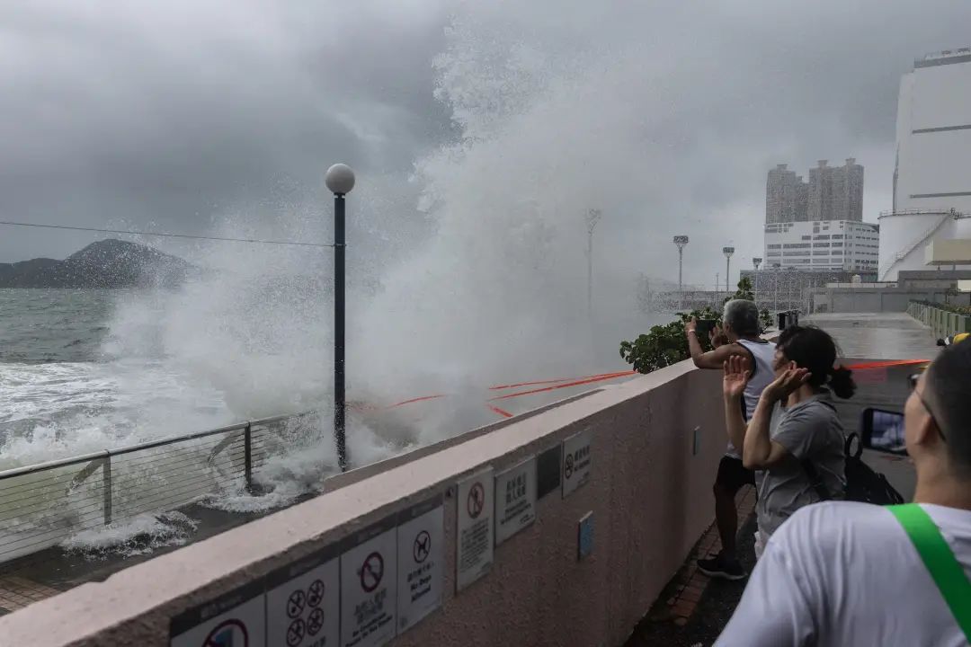
{"type": "Polygon", "coordinates": [[[773,222],[765,225],[765,268],[877,270],[877,225],[854,220],[773,222]]]}

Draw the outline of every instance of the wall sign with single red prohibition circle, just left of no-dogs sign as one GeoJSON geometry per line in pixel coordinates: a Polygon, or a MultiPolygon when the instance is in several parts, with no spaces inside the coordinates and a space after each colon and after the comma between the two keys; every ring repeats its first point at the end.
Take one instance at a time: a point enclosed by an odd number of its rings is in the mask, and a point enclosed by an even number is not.
{"type": "Polygon", "coordinates": [[[395,635],[396,538],[389,518],[358,535],[357,545],[341,555],[343,647],[383,645],[395,635]]]}

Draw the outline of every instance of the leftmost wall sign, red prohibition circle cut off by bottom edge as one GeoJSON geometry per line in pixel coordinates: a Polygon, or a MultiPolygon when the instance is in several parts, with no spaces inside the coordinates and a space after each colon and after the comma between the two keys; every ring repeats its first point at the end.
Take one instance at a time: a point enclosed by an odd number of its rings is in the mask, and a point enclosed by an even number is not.
{"type": "Polygon", "coordinates": [[[172,619],[171,647],[264,647],[263,582],[258,580],[172,619]]]}

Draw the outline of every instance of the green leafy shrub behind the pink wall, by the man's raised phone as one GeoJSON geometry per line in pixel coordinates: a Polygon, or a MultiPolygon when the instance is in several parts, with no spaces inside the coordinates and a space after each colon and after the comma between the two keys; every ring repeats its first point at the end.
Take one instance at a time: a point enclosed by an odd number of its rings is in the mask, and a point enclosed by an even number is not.
{"type": "MultiPolygon", "coordinates": [[[[722,305],[732,299],[755,300],[752,281],[748,277],[742,278],[738,282],[738,289],[735,294],[727,297],[722,305]]],[[[648,333],[638,336],[636,340],[620,341],[620,357],[627,364],[630,364],[636,372],[656,371],[677,364],[691,356],[685,335],[685,326],[691,320],[691,317],[715,319],[718,325],[721,325],[721,312],[707,306],[690,312],[678,312],[675,316],[678,318],[671,323],[653,326],[648,333]]],[[[764,330],[771,323],[768,310],[763,309],[761,311],[760,320],[764,330]]],[[[703,349],[711,350],[711,343],[706,336],[699,336],[698,341],[703,349]]]]}

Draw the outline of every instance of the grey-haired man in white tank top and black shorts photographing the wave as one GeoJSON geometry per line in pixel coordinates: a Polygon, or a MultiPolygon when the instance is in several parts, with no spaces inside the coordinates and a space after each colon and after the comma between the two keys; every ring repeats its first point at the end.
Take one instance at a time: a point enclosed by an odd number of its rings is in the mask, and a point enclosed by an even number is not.
{"type": "MultiPolygon", "coordinates": [[[[711,337],[717,347],[706,353],[698,341],[697,321],[691,319],[685,331],[687,345],[691,351],[694,366],[699,369],[720,371],[724,361],[732,355],[742,355],[749,359],[753,372],[743,399],[745,405],[743,415],[746,420],[749,420],[762,395],[762,390],[775,378],[772,370],[775,344],[762,340],[759,336],[761,326],[758,322],[758,307],[752,301],[744,299],[729,301],[725,304],[721,319],[727,343],[717,345],[718,331],[713,331],[711,337]]],[[[715,521],[721,538],[721,552],[698,561],[698,569],[711,577],[737,580],[746,576],[745,569],[739,564],[735,555],[738,534],[735,495],[746,484],[755,484],[754,472],[751,469],[745,469],[742,465],[741,447],[735,447],[729,441],[725,455],[721,458],[713,488],[715,521]]]]}

